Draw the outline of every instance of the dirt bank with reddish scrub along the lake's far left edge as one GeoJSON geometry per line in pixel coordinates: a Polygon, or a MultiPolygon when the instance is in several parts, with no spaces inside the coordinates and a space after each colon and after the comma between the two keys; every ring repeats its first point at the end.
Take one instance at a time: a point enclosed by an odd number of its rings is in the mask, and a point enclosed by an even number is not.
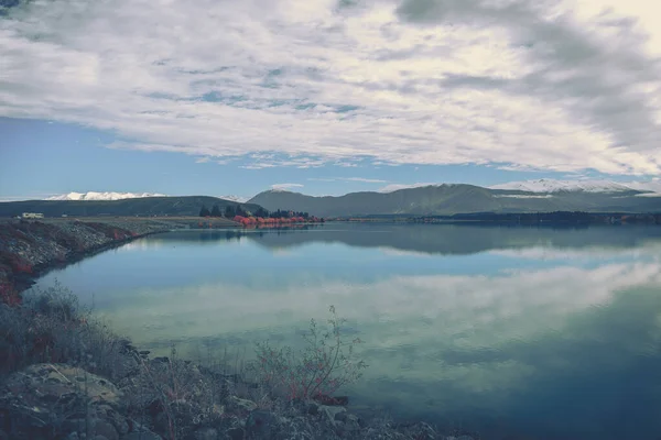
{"type": "Polygon", "coordinates": [[[82,218],[0,220],[0,294],[21,292],[52,268],[140,237],[187,228],[234,228],[227,219],[82,218]]]}

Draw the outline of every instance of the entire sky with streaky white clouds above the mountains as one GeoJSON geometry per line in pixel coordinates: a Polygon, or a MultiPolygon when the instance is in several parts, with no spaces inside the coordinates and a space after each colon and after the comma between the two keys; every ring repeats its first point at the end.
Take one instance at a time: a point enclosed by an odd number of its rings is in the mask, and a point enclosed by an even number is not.
{"type": "Polygon", "coordinates": [[[661,176],[647,0],[0,0],[0,200],[661,176]]]}

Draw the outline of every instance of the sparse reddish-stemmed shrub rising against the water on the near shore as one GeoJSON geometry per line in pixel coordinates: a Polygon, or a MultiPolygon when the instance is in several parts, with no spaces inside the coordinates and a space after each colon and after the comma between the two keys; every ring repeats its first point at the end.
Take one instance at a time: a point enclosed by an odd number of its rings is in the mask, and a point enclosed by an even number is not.
{"type": "Polygon", "coordinates": [[[337,317],[334,306],[329,311],[326,329],[314,319],[310,321],[303,336],[305,346],[300,351],[274,349],[268,341],[257,344],[257,361],[249,367],[267,389],[281,388],[290,399],[308,399],[329,396],[361,377],[367,364],[354,355],[354,346],[361,341],[346,342],[342,334],[346,319],[337,317]]]}

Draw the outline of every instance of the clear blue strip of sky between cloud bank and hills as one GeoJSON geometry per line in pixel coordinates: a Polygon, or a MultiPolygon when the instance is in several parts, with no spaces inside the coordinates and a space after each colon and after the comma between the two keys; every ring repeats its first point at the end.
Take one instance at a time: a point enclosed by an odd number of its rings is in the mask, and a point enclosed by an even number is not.
{"type": "Polygon", "coordinates": [[[436,182],[491,185],[554,175],[473,164],[373,165],[369,160],[356,166],[253,169],[254,158],[250,155],[218,164],[182,153],[109,148],[107,145],[115,140],[112,134],[74,124],[2,118],[0,131],[11,145],[3,146],[1,156],[0,198],[6,200],[88,190],[250,197],[273,185],[305,194],[340,195],[380,190],[389,185],[436,182]]]}

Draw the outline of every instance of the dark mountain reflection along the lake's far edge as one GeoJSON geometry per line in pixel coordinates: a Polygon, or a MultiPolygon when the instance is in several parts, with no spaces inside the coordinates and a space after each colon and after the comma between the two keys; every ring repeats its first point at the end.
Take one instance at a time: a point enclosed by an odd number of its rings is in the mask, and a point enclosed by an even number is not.
{"type": "Polygon", "coordinates": [[[641,243],[661,246],[661,228],[646,226],[595,226],[589,228],[527,228],[462,224],[346,224],[330,223],[306,230],[181,231],[158,235],[152,243],[250,240],[267,249],[310,243],[343,243],[358,248],[390,248],[415,253],[468,255],[490,250],[553,249],[622,250],[641,243]]]}

